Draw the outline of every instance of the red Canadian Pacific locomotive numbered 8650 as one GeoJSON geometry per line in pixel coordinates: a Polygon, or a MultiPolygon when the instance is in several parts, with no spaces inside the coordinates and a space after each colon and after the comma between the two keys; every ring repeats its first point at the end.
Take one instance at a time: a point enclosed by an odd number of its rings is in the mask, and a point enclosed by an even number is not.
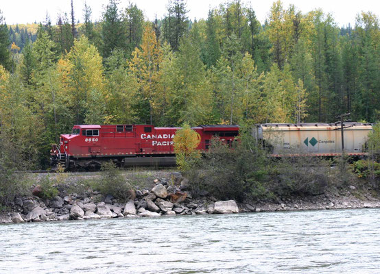
{"type": "MultiPolygon", "coordinates": [[[[173,138],[180,127],[153,125],[74,125],[71,134],[61,134],[53,145],[51,164],[65,169],[99,168],[104,160],[120,166],[175,163],[173,138]]],[[[239,134],[238,125],[200,125],[198,149],[207,150],[211,138],[230,143],[239,134]]]]}

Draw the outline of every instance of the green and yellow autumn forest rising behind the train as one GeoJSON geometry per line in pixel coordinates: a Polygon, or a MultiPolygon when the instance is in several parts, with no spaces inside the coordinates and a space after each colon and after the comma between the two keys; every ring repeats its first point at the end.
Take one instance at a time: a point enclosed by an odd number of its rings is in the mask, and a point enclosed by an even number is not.
{"type": "Polygon", "coordinates": [[[75,124],[379,120],[377,14],[340,27],[281,1],[265,22],[240,0],[199,21],[187,12],[169,0],[164,18],[147,21],[110,0],[96,22],[85,3],[83,23],[71,10],[20,26],[0,13],[0,166],[46,167],[75,124]]]}

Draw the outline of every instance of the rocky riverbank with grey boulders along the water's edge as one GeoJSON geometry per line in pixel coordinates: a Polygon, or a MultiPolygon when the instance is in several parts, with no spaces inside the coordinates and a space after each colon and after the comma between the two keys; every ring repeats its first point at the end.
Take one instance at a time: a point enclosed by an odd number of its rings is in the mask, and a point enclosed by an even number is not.
{"type": "Polygon", "coordinates": [[[180,173],[170,173],[169,178],[154,179],[151,188],[131,191],[126,203],[119,203],[111,195],[104,197],[94,190],[68,194],[62,186],[54,199],[41,199],[36,186],[33,192],[37,196],[16,197],[10,210],[0,215],[0,223],[380,207],[379,198],[355,186],[312,197],[237,203],[218,201],[206,191],[192,197],[188,181],[180,173]]]}

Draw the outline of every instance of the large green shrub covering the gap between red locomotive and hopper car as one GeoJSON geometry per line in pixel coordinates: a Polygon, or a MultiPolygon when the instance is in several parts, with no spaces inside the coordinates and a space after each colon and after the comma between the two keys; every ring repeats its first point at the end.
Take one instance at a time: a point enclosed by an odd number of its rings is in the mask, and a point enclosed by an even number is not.
{"type": "Polygon", "coordinates": [[[269,162],[250,133],[243,129],[233,147],[218,138],[211,140],[209,151],[185,175],[195,195],[205,189],[218,199],[261,199],[271,197],[267,186],[269,162]]]}

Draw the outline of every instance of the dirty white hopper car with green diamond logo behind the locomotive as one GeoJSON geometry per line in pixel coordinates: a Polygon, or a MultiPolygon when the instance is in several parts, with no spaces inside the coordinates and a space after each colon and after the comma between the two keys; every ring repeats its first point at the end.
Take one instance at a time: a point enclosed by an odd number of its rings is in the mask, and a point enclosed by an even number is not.
{"type": "MultiPolygon", "coordinates": [[[[255,125],[252,131],[257,141],[267,147],[273,157],[342,155],[340,123],[268,123],[255,125]]],[[[343,123],[344,153],[366,155],[366,141],[370,132],[370,123],[343,123]]]]}

